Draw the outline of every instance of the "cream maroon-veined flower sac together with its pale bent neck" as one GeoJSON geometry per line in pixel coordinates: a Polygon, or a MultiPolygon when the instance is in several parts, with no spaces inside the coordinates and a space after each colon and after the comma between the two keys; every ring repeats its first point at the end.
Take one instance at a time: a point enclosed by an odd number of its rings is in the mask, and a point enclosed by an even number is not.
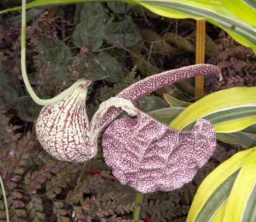
{"type": "Polygon", "coordinates": [[[113,97],[100,105],[92,122],[89,123],[85,101],[91,81],[81,82],[70,96],[43,107],[36,121],[38,141],[58,160],[68,162],[90,160],[97,153],[97,141],[101,130],[114,120],[116,111],[119,113],[124,110],[130,116],[136,115],[134,109],[131,109],[134,108],[132,102],[113,97]]]}

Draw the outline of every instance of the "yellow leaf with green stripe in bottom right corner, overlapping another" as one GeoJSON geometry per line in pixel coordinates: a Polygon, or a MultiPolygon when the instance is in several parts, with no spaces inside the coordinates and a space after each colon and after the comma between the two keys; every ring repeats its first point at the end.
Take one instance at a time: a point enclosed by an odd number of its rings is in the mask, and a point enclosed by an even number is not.
{"type": "Polygon", "coordinates": [[[256,150],[244,162],[226,205],[223,221],[255,221],[256,150]],[[249,201],[252,198],[252,201],[249,201]]]}

